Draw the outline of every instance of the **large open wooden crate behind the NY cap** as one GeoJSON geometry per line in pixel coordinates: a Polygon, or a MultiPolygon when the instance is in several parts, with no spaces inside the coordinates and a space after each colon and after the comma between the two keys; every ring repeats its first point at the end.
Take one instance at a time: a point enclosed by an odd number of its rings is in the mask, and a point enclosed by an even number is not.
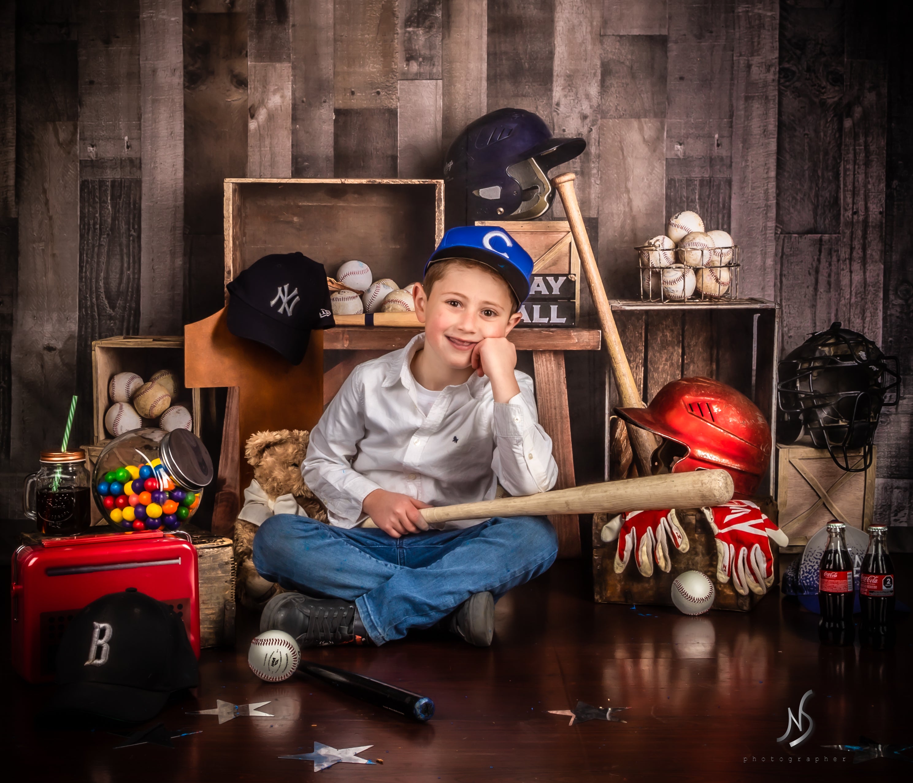
{"type": "Polygon", "coordinates": [[[226,285],[257,259],[296,250],[331,276],[359,259],[374,280],[408,285],[444,236],[440,179],[226,179],[224,207],[226,285]]]}

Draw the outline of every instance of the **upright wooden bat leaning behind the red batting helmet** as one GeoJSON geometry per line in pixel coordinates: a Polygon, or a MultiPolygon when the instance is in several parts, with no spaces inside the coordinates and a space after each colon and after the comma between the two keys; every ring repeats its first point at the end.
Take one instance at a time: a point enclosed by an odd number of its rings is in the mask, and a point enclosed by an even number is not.
{"type": "MultiPolygon", "coordinates": [[[[624,346],[622,345],[621,337],[618,335],[618,327],[615,326],[612,308],[609,306],[609,298],[605,294],[603,279],[599,276],[599,267],[596,266],[590,238],[587,236],[586,227],[583,225],[583,216],[581,215],[580,205],[577,203],[577,194],[573,187],[575,178],[570,172],[561,174],[551,180],[551,185],[561,196],[564,214],[571,225],[571,234],[583,265],[583,273],[586,275],[586,281],[590,286],[590,294],[593,296],[596,312],[599,314],[599,323],[603,330],[605,347],[609,352],[609,362],[612,365],[615,383],[618,384],[618,394],[622,400],[622,407],[646,407],[644,400],[640,397],[640,392],[637,391],[634,375],[631,372],[631,365],[628,364],[627,356],[624,355],[624,346]]],[[[634,451],[637,472],[641,476],[649,476],[653,472],[650,469],[650,457],[656,449],[656,438],[652,433],[634,425],[628,425],[627,431],[628,439],[631,441],[631,448],[634,451]]]]}

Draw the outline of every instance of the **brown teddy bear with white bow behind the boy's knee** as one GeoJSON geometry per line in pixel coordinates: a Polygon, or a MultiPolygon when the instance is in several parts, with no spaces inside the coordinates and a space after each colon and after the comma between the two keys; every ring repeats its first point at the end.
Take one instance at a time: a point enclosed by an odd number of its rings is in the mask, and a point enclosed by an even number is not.
{"type": "Polygon", "coordinates": [[[285,589],[257,574],[252,560],[254,536],[273,513],[297,513],[327,522],[327,511],[301,476],[308,451],[306,429],[256,432],[247,439],[245,457],[254,468],[254,481],[244,491],[244,507],[235,523],[235,563],[238,600],[259,610],[285,589]]]}

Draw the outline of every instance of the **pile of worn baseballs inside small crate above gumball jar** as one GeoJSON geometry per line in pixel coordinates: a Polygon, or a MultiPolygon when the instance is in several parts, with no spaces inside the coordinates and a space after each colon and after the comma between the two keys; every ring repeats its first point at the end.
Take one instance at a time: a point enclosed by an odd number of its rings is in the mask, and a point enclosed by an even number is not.
{"type": "Polygon", "coordinates": [[[172,405],[180,388],[177,376],[171,370],[152,373],[145,382],[131,372],[111,376],[108,397],[113,405],[105,413],[105,429],[117,438],[124,432],[145,426],[143,419],[152,419],[152,426],[167,432],[193,429],[190,411],[183,405],[172,405]]]}

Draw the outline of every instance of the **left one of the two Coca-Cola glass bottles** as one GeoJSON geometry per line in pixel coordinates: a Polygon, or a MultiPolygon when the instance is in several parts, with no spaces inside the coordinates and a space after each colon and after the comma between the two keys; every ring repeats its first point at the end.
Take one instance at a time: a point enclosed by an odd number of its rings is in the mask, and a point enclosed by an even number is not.
{"type": "Polygon", "coordinates": [[[827,524],[827,548],[818,572],[818,603],[821,621],[818,637],[824,644],[853,644],[853,561],[846,549],[844,524],[827,524]]]}

